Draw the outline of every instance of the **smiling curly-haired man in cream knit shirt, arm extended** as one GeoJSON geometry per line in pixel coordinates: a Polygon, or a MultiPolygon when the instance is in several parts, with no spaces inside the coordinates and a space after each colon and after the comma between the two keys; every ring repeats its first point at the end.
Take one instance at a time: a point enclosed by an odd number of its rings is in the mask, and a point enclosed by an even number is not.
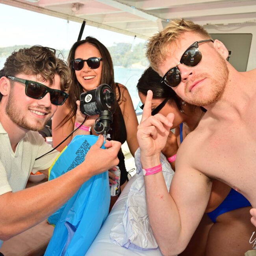
{"type": "MultiPolygon", "coordinates": [[[[70,74],[55,50],[32,46],[13,52],[0,70],[0,239],[40,223],[63,205],[91,176],[117,165],[119,142],[100,136],[85,161],[50,182],[24,189],[28,176],[48,168],[58,156],[41,135],[46,122],[67,99],[70,74]],[[99,155],[102,161],[98,161],[99,155]]],[[[0,247],[1,247],[0,240],[0,247]]]]}

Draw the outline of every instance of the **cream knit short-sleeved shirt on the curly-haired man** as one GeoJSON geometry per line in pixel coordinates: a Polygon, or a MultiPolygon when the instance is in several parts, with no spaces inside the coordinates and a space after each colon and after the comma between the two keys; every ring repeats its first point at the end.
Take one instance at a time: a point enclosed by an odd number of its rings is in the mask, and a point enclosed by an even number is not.
{"type": "Polygon", "coordinates": [[[51,149],[38,132],[29,131],[13,152],[9,136],[0,123],[0,195],[24,189],[32,169],[33,173],[48,169],[59,154],[57,150],[39,160],[35,158],[51,149]]]}

